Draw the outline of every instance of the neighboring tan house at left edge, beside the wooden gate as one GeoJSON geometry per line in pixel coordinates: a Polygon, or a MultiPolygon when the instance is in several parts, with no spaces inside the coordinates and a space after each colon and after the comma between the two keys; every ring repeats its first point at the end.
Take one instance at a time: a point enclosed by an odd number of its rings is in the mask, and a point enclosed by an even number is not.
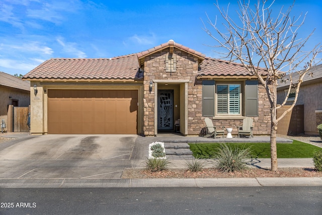
{"type": "Polygon", "coordinates": [[[30,105],[30,82],[0,71],[0,123],[6,121],[8,129],[8,107],[28,107],[30,105]]]}

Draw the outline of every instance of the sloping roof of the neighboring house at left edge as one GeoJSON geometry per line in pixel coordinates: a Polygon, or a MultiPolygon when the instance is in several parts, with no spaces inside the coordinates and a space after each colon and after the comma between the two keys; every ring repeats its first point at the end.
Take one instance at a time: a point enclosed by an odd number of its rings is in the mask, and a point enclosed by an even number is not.
{"type": "Polygon", "coordinates": [[[30,91],[30,82],[0,71],[0,85],[30,91]]]}

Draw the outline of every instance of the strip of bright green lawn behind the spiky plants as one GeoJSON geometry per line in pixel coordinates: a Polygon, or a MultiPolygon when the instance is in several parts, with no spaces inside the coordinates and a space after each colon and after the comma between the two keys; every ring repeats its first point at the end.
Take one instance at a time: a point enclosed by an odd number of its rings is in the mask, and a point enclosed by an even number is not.
{"type": "MultiPolygon", "coordinates": [[[[194,157],[211,158],[220,144],[189,144],[194,157]]],[[[232,148],[251,147],[253,158],[271,158],[270,143],[231,143],[232,148]]],[[[322,150],[319,147],[305,144],[297,140],[293,144],[277,144],[277,158],[312,158],[315,151],[322,150]]]]}

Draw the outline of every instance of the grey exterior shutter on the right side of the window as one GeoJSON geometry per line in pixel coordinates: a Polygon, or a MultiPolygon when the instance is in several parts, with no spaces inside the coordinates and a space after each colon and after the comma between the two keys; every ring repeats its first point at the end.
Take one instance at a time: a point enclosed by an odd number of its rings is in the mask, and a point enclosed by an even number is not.
{"type": "Polygon", "coordinates": [[[258,116],[258,81],[248,80],[245,86],[245,116],[258,116]]]}

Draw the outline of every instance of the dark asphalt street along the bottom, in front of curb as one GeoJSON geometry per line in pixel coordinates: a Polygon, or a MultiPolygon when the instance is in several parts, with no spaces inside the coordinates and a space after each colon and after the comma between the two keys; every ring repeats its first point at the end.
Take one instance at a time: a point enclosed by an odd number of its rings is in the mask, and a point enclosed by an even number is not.
{"type": "Polygon", "coordinates": [[[0,189],[0,214],[322,214],[322,187],[0,189]]]}

